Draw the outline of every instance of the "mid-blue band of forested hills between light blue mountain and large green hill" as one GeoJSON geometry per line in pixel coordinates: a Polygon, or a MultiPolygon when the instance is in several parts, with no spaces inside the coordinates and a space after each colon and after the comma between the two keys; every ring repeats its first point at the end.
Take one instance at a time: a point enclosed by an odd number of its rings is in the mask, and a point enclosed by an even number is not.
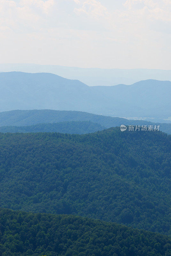
{"type": "Polygon", "coordinates": [[[144,120],[128,120],[125,118],[94,115],[81,111],[59,110],[12,110],[0,112],[0,132],[67,132],[89,133],[110,127],[125,125],[160,125],[162,132],[171,134],[171,124],[152,123],[144,120]],[[54,124],[62,122],[92,122],[94,124],[74,123],[54,124]],[[44,123],[44,124],[43,124],[44,123]],[[39,125],[38,125],[39,124],[39,125]],[[102,126],[98,126],[98,125],[102,126]],[[34,126],[32,126],[34,125],[34,126]],[[3,126],[19,126],[3,127],[3,126]],[[29,126],[29,127],[23,127],[29,126]],[[32,126],[32,127],[31,127],[32,126]],[[84,127],[83,127],[84,126],[84,127]],[[77,132],[75,132],[75,131],[77,132]]]}

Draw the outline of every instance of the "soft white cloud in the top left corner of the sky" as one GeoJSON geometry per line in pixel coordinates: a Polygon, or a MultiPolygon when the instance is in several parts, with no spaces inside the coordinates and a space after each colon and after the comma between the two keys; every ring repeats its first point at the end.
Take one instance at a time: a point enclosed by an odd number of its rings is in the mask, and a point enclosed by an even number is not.
{"type": "Polygon", "coordinates": [[[23,33],[39,29],[53,6],[54,0],[0,0],[0,26],[23,33]]]}

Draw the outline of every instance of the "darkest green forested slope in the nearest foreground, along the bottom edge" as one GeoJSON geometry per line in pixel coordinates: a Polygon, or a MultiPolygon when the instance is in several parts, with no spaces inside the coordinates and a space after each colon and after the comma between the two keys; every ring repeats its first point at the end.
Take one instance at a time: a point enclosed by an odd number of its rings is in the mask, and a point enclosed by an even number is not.
{"type": "Polygon", "coordinates": [[[72,215],[0,210],[1,256],[170,256],[164,235],[72,215]]]}

